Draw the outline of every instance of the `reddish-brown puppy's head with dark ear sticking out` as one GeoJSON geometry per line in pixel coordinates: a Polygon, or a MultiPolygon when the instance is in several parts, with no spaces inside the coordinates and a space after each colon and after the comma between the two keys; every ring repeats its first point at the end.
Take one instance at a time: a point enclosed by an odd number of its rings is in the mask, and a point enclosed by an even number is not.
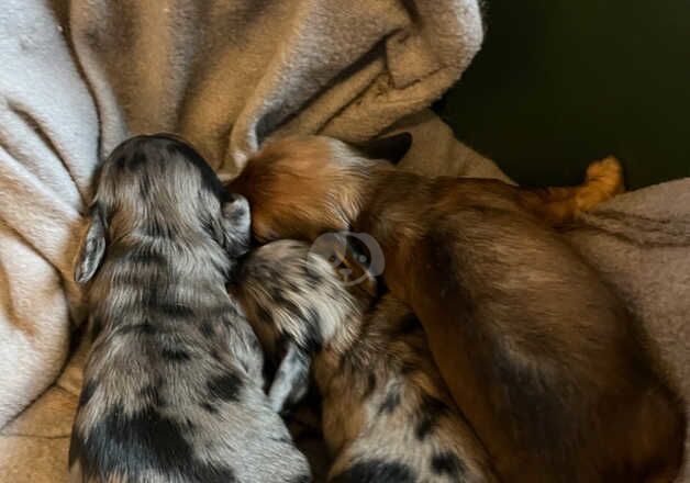
{"type": "Polygon", "coordinates": [[[347,229],[361,209],[371,178],[390,169],[410,148],[403,133],[359,146],[325,136],[288,137],[267,145],[249,159],[229,190],[252,205],[254,235],[314,239],[347,229]]]}

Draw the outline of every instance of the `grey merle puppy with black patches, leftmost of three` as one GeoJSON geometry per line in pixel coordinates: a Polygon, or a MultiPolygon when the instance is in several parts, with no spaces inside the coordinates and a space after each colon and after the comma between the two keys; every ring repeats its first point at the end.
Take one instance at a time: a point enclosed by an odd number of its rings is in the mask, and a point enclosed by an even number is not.
{"type": "Polygon", "coordinates": [[[134,137],[104,161],[75,268],[96,338],[73,482],[310,481],[225,291],[248,243],[246,200],[179,138],[134,137]]]}

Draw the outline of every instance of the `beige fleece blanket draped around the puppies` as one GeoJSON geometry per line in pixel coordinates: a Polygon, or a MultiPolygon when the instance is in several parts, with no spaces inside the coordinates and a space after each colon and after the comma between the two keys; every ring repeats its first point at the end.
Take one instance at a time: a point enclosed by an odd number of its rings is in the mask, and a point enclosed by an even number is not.
{"type": "MultiPolygon", "coordinates": [[[[475,0],[7,0],[0,481],[67,481],[88,350],[64,367],[84,318],[71,259],[93,172],[119,142],[178,132],[234,173],[269,136],[361,141],[401,120],[415,137],[404,169],[507,179],[435,115],[413,114],[458,79],[481,38],[475,0]]],[[[689,193],[680,180],[619,196],[568,235],[687,396],[689,193]]]]}

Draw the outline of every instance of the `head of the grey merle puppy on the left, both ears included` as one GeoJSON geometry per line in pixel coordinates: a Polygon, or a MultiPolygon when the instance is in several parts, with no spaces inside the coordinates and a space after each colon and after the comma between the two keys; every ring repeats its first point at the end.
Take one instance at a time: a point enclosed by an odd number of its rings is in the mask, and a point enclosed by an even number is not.
{"type": "Polygon", "coordinates": [[[170,134],[136,136],[118,146],[100,167],[89,215],[75,267],[78,283],[93,277],[107,240],[202,235],[238,255],[249,239],[246,199],[230,195],[194,148],[170,134]]]}

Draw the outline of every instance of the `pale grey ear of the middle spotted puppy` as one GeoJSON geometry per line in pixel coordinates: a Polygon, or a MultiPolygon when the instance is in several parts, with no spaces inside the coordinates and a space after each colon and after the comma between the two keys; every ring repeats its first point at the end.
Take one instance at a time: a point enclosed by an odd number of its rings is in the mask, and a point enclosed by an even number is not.
{"type": "Polygon", "coordinates": [[[268,390],[270,407],[281,413],[297,405],[309,391],[311,359],[293,341],[287,342],[286,355],[268,390]]]}

